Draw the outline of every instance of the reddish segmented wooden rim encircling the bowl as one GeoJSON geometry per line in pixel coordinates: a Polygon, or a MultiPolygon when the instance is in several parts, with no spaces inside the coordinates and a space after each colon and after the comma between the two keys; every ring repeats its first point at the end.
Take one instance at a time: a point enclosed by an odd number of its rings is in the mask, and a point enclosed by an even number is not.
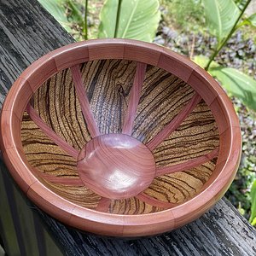
{"type": "Polygon", "coordinates": [[[224,195],[239,166],[241,131],[230,99],[197,64],[156,44],[109,38],[67,44],[27,67],[12,85],[3,103],[0,146],[3,160],[20,189],[38,207],[64,224],[106,236],[151,236],[174,230],[198,218],[224,195]],[[32,94],[55,73],[79,63],[100,59],[142,61],[165,69],[193,87],[212,110],[220,138],[218,162],[214,168],[218,172],[213,171],[200,193],[189,201],[161,212],[141,215],[97,212],[56,195],[30,170],[21,145],[20,123],[32,94]],[[201,86],[206,86],[207,90],[201,90],[201,86]]]}

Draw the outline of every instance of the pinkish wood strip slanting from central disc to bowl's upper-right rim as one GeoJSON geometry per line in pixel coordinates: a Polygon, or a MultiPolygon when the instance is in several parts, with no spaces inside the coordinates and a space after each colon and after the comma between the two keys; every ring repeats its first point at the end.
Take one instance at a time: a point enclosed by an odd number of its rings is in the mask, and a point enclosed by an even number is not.
{"type": "Polygon", "coordinates": [[[162,143],[167,137],[170,136],[172,131],[175,131],[177,127],[189,116],[195,106],[201,102],[201,96],[199,96],[196,92],[195,95],[191,98],[189,103],[183,108],[183,110],[177,114],[177,116],[172,119],[172,121],[164,127],[162,131],[160,131],[149,143],[146,145],[152,151],[156,148],[160,143],[162,143]]]}

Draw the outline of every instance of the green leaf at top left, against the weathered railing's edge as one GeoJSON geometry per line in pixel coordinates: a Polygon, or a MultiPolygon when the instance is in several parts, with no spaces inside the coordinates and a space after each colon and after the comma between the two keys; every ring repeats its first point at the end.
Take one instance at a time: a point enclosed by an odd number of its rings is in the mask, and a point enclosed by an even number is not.
{"type": "Polygon", "coordinates": [[[54,16],[55,20],[57,20],[67,32],[71,32],[63,6],[63,3],[65,3],[64,0],[38,0],[38,2],[44,6],[50,15],[54,16]]]}

